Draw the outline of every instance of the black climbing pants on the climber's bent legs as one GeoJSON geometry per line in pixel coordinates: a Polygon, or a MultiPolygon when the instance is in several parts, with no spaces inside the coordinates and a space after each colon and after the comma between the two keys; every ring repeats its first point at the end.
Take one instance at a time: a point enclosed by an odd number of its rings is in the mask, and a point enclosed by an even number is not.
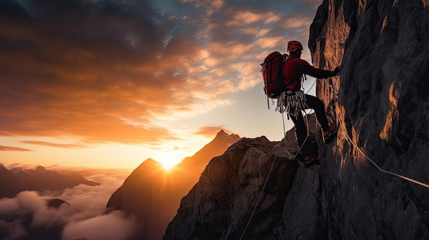
{"type": "MultiPolygon", "coordinates": [[[[329,130],[328,118],[326,118],[325,105],[323,102],[315,97],[308,94],[306,95],[306,109],[314,109],[317,121],[319,122],[321,129],[326,131],[329,130]]],[[[295,135],[298,140],[299,147],[304,144],[301,148],[302,155],[311,156],[312,155],[312,144],[310,141],[306,141],[307,137],[307,126],[304,122],[304,117],[302,116],[302,111],[299,111],[299,114],[295,116],[290,116],[293,124],[295,124],[295,135]]]]}

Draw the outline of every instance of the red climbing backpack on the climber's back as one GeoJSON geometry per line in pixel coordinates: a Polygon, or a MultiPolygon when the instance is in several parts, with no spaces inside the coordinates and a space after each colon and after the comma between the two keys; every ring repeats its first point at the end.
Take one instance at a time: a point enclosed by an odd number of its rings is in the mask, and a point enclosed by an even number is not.
{"type": "Polygon", "coordinates": [[[286,61],[287,55],[275,51],[265,57],[262,66],[262,78],[264,80],[264,92],[269,98],[279,98],[280,94],[284,92],[284,79],[283,79],[283,64],[286,61]]]}

